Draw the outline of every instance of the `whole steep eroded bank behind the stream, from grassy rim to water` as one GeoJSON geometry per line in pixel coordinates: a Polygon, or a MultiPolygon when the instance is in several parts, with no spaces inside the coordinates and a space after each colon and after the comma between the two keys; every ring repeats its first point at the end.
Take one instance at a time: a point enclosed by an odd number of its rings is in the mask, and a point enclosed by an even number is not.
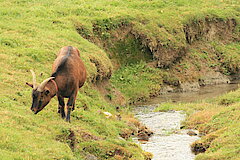
{"type": "Polygon", "coordinates": [[[108,53],[117,69],[111,82],[130,103],[239,78],[237,19],[206,15],[182,23],[179,32],[165,35],[175,38],[166,43],[164,36],[159,37],[160,31],[150,37],[137,23],[135,19],[104,19],[94,23],[92,31],[76,27],[79,34],[108,53]]]}

